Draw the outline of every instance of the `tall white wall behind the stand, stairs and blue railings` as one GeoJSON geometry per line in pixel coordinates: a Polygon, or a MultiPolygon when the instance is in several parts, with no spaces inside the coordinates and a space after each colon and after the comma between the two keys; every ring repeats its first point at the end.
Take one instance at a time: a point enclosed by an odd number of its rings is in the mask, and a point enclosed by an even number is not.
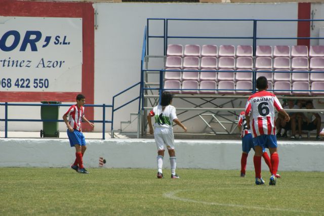
{"type": "MultiPolygon", "coordinates": [[[[112,96],[140,81],[140,58],[143,42],[143,31],[147,18],[207,18],[207,19],[297,19],[297,3],[282,4],[141,4],[141,3],[96,3],[93,4],[98,13],[98,29],[95,30],[95,103],[111,104],[112,96]]],[[[320,6],[322,7],[322,6],[320,6]]],[[[318,13],[319,15],[319,13],[318,13]]],[[[320,15],[321,16],[321,15],[320,15]]],[[[319,19],[321,17],[316,16],[319,19]]],[[[152,23],[153,24],[153,23],[152,23]]],[[[156,25],[157,26],[157,25],[156,25]]],[[[152,32],[163,33],[162,27],[154,28],[152,32]]],[[[213,27],[210,23],[201,25],[184,25],[174,23],[170,25],[171,33],[181,30],[193,35],[207,34],[208,31],[216,31],[218,34],[232,35],[252,34],[252,25],[234,25],[223,23],[213,27]],[[192,30],[192,26],[197,27],[192,30]],[[226,32],[223,32],[226,29],[226,32]],[[197,33],[199,32],[199,34],[197,33]]],[[[275,23],[258,25],[259,36],[297,36],[297,23],[283,23],[279,26],[275,23]],[[265,26],[267,30],[265,30],[265,26]],[[284,31],[285,30],[285,31],[284,31]]],[[[154,39],[152,39],[154,40],[154,39]]],[[[170,41],[170,42],[176,42],[170,41]]],[[[187,42],[194,41],[182,41],[187,42]]],[[[204,44],[208,41],[196,41],[204,44]]],[[[223,40],[223,43],[214,41],[214,44],[251,44],[247,40],[223,40]],[[226,41],[226,42],[224,42],[226,41]]],[[[287,44],[295,45],[295,40],[285,41],[260,41],[260,44],[287,44]]],[[[153,48],[160,52],[151,54],[161,55],[163,47],[161,41],[155,39],[153,48]]],[[[151,47],[152,48],[152,47],[151,47]]],[[[154,50],[154,49],[153,49],[154,50]]],[[[158,64],[157,64],[158,65],[158,64]]],[[[160,67],[160,66],[158,66],[160,67]]],[[[116,105],[120,105],[139,95],[139,88],[117,98],[116,105]]],[[[39,107],[24,107],[26,114],[21,112],[22,107],[10,107],[10,118],[35,118],[40,117],[39,107]]],[[[119,110],[115,115],[115,128],[119,128],[119,122],[129,120],[129,113],[137,112],[138,102],[119,110]]],[[[60,108],[60,117],[66,111],[66,107],[60,108]]],[[[110,120],[110,109],[107,109],[107,119],[110,120]]],[[[0,116],[4,118],[4,107],[0,107],[0,116]]],[[[102,118],[101,109],[95,108],[95,118],[102,118]]],[[[128,129],[135,131],[136,122],[128,129]]],[[[42,128],[40,122],[9,122],[10,131],[39,131],[42,128]]],[[[101,131],[101,125],[97,124],[95,131],[101,131]]],[[[110,130],[107,124],[106,131],[110,130]]],[[[197,128],[197,127],[196,127],[197,128]]],[[[64,123],[60,123],[60,131],[65,131],[64,123]]],[[[195,132],[194,128],[192,128],[195,132]]],[[[4,130],[4,122],[0,123],[0,130],[4,130]]],[[[200,131],[198,128],[197,131],[200,131]]]]}

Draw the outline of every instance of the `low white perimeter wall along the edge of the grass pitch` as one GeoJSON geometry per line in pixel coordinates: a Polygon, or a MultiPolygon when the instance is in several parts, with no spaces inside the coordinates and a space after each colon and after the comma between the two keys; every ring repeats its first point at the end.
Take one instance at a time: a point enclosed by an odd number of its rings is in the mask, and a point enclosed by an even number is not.
{"type": "MultiPolygon", "coordinates": [[[[86,167],[98,167],[99,157],[107,168],[156,168],[154,140],[88,140],[84,157],[86,167]]],[[[176,140],[178,168],[240,169],[240,141],[176,140]]],[[[324,171],[324,142],[279,141],[279,170],[324,171]]],[[[253,155],[248,170],[254,170],[253,155]]],[[[1,139],[1,167],[69,167],[75,150],[63,139],[1,139]]],[[[263,161],[263,159],[262,159],[263,161]]],[[[164,167],[169,168],[165,153],[164,167]]],[[[263,170],[268,170],[262,162],[263,170]]],[[[91,171],[91,170],[90,170],[91,171]]]]}

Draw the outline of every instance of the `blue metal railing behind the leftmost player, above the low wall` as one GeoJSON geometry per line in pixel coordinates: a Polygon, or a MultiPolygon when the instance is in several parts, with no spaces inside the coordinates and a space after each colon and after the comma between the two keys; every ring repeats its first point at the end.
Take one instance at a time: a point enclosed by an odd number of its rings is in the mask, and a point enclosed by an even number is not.
{"type": "MultiPolygon", "coordinates": [[[[36,122],[36,121],[42,121],[42,122],[64,122],[63,120],[58,120],[58,119],[13,119],[13,118],[8,118],[8,107],[9,106],[58,106],[58,107],[69,107],[74,104],[20,104],[20,103],[0,103],[0,106],[5,106],[5,118],[0,119],[0,121],[5,121],[5,138],[8,138],[8,122],[9,121],[31,121],[31,122],[36,122]]],[[[96,104],[86,104],[84,105],[85,107],[102,107],[102,120],[89,120],[90,122],[94,123],[102,123],[102,139],[105,139],[105,123],[111,123],[112,120],[106,120],[106,108],[111,107],[112,105],[96,105],[96,104]]]]}

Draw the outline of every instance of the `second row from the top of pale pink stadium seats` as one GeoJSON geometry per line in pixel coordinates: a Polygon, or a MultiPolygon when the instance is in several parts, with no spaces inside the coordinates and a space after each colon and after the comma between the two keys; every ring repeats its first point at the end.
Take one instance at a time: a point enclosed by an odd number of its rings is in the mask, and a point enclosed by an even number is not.
{"type": "Polygon", "coordinates": [[[166,68],[213,68],[213,69],[324,69],[324,57],[197,57],[168,56],[166,68]],[[255,60],[255,61],[254,61],[255,60]]]}

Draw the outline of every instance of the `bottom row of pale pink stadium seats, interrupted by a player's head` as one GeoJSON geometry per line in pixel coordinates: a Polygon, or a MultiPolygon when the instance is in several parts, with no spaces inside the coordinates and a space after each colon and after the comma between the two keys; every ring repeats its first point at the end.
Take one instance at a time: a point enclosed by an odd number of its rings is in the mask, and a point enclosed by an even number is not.
{"type": "MultiPolygon", "coordinates": [[[[164,83],[164,89],[175,94],[251,94],[252,87],[252,81],[230,80],[166,80],[164,83]]],[[[296,81],[292,84],[289,81],[269,81],[268,91],[271,90],[277,95],[324,95],[324,92],[307,92],[324,90],[324,82],[296,81]]]]}

